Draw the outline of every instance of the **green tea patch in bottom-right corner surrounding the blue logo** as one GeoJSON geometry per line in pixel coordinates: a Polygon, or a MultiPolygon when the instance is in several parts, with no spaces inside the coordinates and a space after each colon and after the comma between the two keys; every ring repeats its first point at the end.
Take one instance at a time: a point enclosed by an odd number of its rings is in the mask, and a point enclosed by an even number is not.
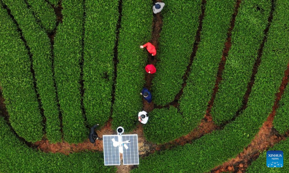
{"type": "Polygon", "coordinates": [[[281,173],[281,172],[289,172],[289,160],[287,159],[289,157],[289,139],[287,138],[284,141],[279,142],[276,144],[273,148],[270,148],[269,150],[272,151],[283,151],[283,167],[282,168],[268,168],[266,167],[266,151],[264,151],[262,154],[260,154],[259,158],[256,161],[252,162],[252,165],[248,167],[246,172],[255,173],[255,172],[274,172],[274,173],[281,173]]]}

